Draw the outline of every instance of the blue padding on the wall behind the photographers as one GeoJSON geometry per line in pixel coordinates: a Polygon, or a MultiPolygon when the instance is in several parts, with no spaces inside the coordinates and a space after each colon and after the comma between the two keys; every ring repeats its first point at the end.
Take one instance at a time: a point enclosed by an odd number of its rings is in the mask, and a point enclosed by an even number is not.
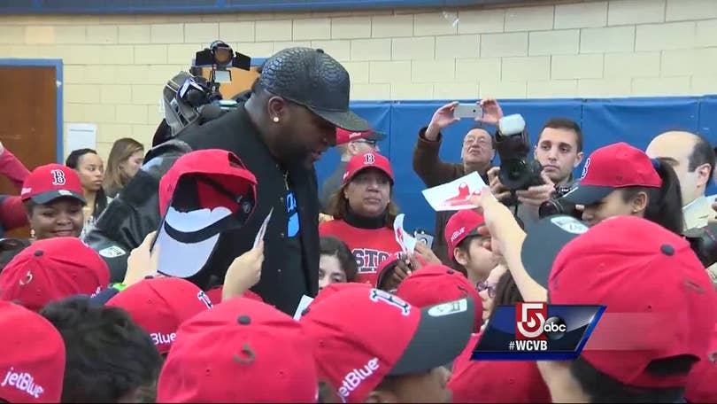
{"type": "MultiPolygon", "coordinates": [[[[395,200],[406,214],[406,229],[434,229],[435,213],[420,193],[425,188],[413,173],[412,151],[418,130],[438,107],[449,101],[358,102],[353,109],[389,138],[380,145],[396,175],[395,200]]],[[[470,101],[463,101],[469,103],[470,101]]],[[[501,101],[505,115],[521,113],[535,144],[546,120],[567,117],[581,124],[586,157],[598,147],[628,142],[644,149],[653,136],[673,129],[688,130],[717,144],[717,97],[661,97],[620,99],[556,99],[501,101]]],[[[463,136],[472,122],[462,120],[443,133],[441,159],[459,162],[463,136]]],[[[492,128],[490,128],[492,132],[492,128]]],[[[339,156],[329,151],[317,164],[320,183],[333,171],[339,156]]],[[[580,175],[582,167],[575,169],[580,175]]],[[[712,185],[708,194],[717,191],[712,185]]]]}

